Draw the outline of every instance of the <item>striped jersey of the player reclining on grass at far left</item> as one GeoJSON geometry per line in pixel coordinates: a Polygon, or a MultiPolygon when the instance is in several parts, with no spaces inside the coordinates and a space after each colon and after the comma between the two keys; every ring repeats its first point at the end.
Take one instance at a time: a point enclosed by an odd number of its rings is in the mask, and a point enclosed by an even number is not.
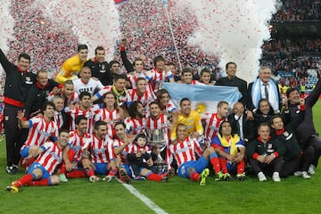
{"type": "Polygon", "coordinates": [[[45,142],[41,147],[45,151],[37,157],[35,162],[41,164],[50,175],[53,175],[54,170],[62,163],[62,150],[58,144],[51,141],[45,142]]]}

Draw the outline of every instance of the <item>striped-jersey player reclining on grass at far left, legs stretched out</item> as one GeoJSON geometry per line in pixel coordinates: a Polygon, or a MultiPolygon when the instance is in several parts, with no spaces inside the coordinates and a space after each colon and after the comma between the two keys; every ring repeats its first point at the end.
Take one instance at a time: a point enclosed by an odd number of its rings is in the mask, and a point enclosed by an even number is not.
{"type": "Polygon", "coordinates": [[[39,155],[37,160],[30,165],[27,175],[12,182],[6,190],[18,193],[22,185],[58,185],[60,179],[53,175],[53,172],[62,163],[62,150],[68,144],[69,138],[69,132],[61,130],[56,143],[47,141],[37,149],[30,151],[27,159],[39,155]]]}

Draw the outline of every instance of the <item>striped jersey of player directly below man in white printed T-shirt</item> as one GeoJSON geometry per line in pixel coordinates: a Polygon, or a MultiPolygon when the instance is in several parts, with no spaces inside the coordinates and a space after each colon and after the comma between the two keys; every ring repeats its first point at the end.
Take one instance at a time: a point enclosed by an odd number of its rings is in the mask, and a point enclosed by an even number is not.
{"type": "Polygon", "coordinates": [[[76,129],[76,124],[75,124],[75,119],[79,115],[84,115],[87,120],[87,132],[88,133],[93,133],[94,130],[94,117],[95,114],[99,113],[100,111],[100,106],[98,104],[92,105],[89,109],[86,111],[81,110],[79,107],[76,109],[70,109],[68,106],[64,109],[64,111],[67,114],[70,114],[70,130],[76,129]]]}

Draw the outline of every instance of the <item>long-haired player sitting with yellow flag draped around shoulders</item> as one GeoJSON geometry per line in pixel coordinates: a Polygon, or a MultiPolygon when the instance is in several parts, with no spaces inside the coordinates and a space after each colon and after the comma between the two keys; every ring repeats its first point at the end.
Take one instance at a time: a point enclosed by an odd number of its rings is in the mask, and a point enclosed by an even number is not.
{"type": "Polygon", "coordinates": [[[219,168],[216,169],[216,180],[229,180],[230,172],[235,172],[236,179],[243,181],[245,177],[245,145],[237,134],[232,134],[229,121],[223,121],[218,128],[218,135],[210,144],[218,154],[219,168]]]}

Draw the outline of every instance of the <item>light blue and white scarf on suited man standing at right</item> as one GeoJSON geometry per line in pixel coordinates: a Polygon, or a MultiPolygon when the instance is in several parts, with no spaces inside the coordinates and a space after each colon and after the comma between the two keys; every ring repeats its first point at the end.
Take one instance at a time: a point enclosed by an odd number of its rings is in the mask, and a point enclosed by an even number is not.
{"type": "MultiPolygon", "coordinates": [[[[277,97],[277,87],[276,83],[272,80],[268,80],[268,103],[272,105],[273,110],[279,109],[279,100],[277,97]]],[[[253,86],[251,88],[251,98],[252,103],[254,104],[256,109],[259,109],[259,100],[261,98],[261,80],[257,78],[253,82],[253,86]]]]}

